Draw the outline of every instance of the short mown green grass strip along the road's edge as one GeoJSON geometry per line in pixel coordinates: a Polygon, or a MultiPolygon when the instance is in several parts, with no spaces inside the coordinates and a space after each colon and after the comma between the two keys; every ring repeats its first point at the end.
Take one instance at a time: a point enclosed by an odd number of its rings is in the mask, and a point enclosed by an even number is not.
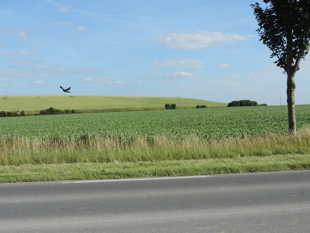
{"type": "Polygon", "coordinates": [[[0,182],[115,179],[310,169],[310,154],[147,162],[0,166],[0,182]]]}

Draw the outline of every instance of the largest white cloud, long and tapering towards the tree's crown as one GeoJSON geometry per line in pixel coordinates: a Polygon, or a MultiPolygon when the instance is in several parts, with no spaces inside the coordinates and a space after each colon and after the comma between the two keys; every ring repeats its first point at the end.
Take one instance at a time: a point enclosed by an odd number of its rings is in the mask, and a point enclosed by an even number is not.
{"type": "Polygon", "coordinates": [[[174,49],[201,49],[215,44],[228,44],[238,40],[249,40],[252,35],[225,34],[222,32],[197,31],[161,34],[154,41],[174,49]]]}

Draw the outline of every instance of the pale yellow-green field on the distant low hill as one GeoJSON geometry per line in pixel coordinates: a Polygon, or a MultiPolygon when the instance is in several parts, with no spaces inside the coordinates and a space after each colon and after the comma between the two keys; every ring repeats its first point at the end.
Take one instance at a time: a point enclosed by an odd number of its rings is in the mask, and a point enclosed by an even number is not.
{"type": "MultiPolygon", "coordinates": [[[[180,98],[180,107],[226,107],[227,103],[201,99],[180,98]]],[[[8,95],[0,96],[0,111],[39,111],[49,107],[58,109],[109,109],[136,107],[164,107],[166,103],[175,103],[172,97],[131,97],[131,96],[95,96],[95,95],[8,95]]]]}

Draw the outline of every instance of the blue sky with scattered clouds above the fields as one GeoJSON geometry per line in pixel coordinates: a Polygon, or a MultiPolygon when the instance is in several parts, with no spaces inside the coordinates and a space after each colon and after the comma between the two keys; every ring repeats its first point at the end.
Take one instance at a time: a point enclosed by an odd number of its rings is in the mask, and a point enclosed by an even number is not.
{"type": "MultiPolygon", "coordinates": [[[[2,1],[0,95],[166,96],[286,104],[255,1],[2,1]]],[[[295,75],[309,104],[310,57],[295,75]]]]}

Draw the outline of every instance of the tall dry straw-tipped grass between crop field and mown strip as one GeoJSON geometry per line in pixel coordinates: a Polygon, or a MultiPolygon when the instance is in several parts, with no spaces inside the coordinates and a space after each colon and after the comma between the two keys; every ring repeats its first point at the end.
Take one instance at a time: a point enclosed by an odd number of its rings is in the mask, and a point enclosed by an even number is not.
{"type": "Polygon", "coordinates": [[[310,128],[295,137],[267,134],[245,138],[201,139],[198,137],[151,139],[85,137],[34,139],[15,137],[0,141],[0,166],[61,164],[75,162],[122,162],[237,158],[279,154],[310,153],[310,128]]]}

